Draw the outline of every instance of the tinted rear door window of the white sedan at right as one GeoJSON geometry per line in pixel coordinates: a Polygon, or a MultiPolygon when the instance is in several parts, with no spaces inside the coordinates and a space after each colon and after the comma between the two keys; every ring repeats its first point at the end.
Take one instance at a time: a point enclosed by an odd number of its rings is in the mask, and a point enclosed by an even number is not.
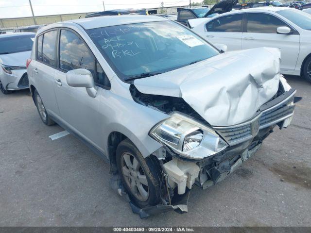
{"type": "Polygon", "coordinates": [[[207,32],[242,32],[242,14],[216,18],[207,23],[207,32]]]}

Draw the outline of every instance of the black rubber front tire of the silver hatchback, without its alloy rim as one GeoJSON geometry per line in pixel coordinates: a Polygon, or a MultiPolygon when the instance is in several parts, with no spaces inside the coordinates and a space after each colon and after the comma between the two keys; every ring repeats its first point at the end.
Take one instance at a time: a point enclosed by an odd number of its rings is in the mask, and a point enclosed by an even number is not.
{"type": "MultiPolygon", "coordinates": [[[[134,159],[134,158],[133,158],[134,159]]],[[[135,202],[140,208],[146,207],[146,206],[153,206],[160,202],[160,166],[159,162],[154,158],[154,156],[149,156],[147,158],[143,158],[139,150],[136,148],[136,146],[129,140],[125,139],[123,140],[117,148],[116,151],[116,161],[118,166],[118,171],[122,180],[122,183],[131,197],[131,200],[135,202]],[[146,200],[138,199],[138,193],[139,188],[137,188],[136,194],[132,191],[132,188],[130,187],[129,183],[131,180],[128,178],[128,176],[124,175],[122,172],[122,157],[131,154],[133,157],[135,157],[140,165],[140,168],[142,171],[139,171],[139,175],[143,174],[145,175],[147,182],[148,182],[148,198],[146,200]]],[[[134,162],[133,162],[134,164],[134,162]]],[[[139,168],[139,169],[140,169],[139,168]]],[[[132,179],[133,176],[131,176],[132,179]]],[[[139,177],[137,178],[139,180],[139,177]]],[[[132,182],[134,182],[132,180],[132,182]]],[[[138,181],[139,182],[139,181],[138,181]]],[[[134,185],[135,186],[135,185],[134,185]]],[[[144,189],[146,190],[146,186],[144,186],[144,189]]]]}

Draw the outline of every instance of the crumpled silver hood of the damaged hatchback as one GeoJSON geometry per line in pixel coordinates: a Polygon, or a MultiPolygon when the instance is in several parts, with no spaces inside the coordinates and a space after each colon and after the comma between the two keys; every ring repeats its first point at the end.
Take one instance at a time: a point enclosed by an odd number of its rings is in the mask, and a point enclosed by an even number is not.
{"type": "Polygon", "coordinates": [[[280,51],[231,51],[163,74],[137,79],[144,94],[183,98],[213,126],[242,123],[277,92],[280,51]]]}

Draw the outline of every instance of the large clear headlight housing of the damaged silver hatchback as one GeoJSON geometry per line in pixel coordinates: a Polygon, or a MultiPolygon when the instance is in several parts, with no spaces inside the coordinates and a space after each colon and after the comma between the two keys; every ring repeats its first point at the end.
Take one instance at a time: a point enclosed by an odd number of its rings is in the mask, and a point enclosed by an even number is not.
{"type": "Polygon", "coordinates": [[[150,134],[179,155],[190,159],[203,159],[228,146],[211,128],[180,113],[161,121],[150,134]]]}

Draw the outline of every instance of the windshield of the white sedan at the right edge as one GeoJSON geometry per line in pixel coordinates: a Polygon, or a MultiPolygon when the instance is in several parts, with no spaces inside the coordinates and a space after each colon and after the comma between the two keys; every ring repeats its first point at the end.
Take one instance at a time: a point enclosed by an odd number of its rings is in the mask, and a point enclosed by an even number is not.
{"type": "Polygon", "coordinates": [[[298,27],[311,30],[311,15],[299,10],[281,10],[278,14],[292,21],[298,27]]]}

